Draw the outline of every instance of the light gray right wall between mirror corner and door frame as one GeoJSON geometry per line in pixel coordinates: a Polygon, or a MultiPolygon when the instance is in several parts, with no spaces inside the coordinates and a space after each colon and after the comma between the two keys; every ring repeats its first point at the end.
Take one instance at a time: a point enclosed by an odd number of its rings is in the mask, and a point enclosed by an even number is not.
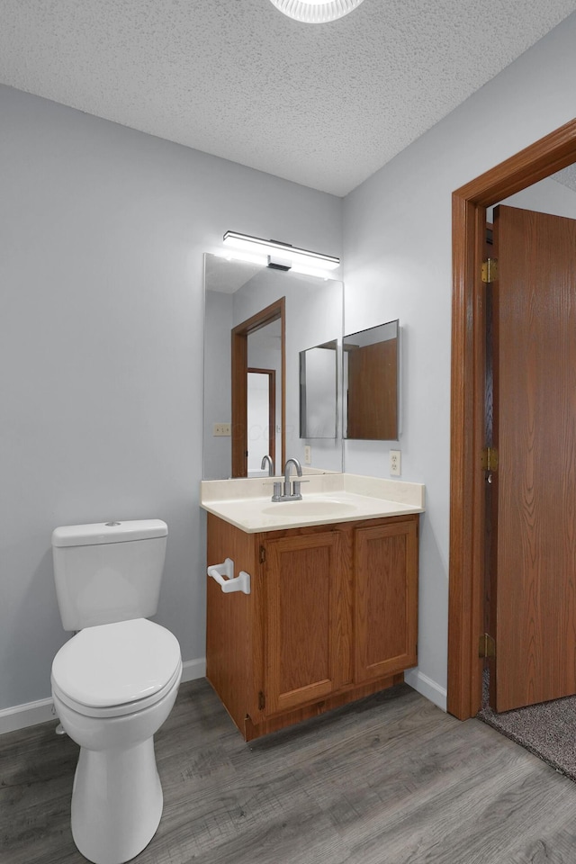
{"type": "MultiPolygon", "coordinates": [[[[450,475],[451,195],[576,113],[576,14],[344,202],[345,330],[403,328],[402,480],[424,482],[419,670],[445,704],[450,475]]],[[[552,182],[552,181],[551,181],[552,182]]],[[[346,470],[389,476],[388,450],[346,442],[346,470]]]]}

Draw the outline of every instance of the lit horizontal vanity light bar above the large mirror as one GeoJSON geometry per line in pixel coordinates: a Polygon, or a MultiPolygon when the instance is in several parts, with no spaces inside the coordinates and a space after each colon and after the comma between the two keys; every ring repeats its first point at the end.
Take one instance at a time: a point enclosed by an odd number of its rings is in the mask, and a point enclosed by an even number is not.
{"type": "Polygon", "coordinates": [[[322,276],[326,271],[336,270],[340,266],[340,259],[332,255],[299,249],[279,240],[250,237],[249,234],[238,234],[236,231],[226,231],[224,246],[234,250],[230,257],[268,266],[273,270],[322,276]]]}

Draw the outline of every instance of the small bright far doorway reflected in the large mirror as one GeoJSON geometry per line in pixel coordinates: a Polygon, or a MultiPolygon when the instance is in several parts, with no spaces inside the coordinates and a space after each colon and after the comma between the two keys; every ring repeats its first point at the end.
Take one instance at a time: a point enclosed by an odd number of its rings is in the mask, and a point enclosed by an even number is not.
{"type": "Polygon", "coordinates": [[[270,456],[272,464],[276,464],[275,369],[248,368],[247,416],[248,477],[257,477],[267,473],[262,469],[264,456],[270,456]]]}

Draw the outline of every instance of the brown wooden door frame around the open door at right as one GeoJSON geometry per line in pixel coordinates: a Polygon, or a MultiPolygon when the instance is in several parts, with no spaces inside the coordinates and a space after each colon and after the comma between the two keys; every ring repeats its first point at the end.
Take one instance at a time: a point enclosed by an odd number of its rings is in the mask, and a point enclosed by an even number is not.
{"type": "Polygon", "coordinates": [[[484,596],[485,308],[481,264],[486,208],[576,162],[576,120],[452,195],[453,299],[450,582],[447,710],[466,720],[482,706],[484,596]]]}

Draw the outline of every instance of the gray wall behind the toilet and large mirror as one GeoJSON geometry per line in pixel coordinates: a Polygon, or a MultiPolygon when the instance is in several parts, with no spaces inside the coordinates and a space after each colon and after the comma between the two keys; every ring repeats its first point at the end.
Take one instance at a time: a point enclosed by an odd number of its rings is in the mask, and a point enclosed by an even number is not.
{"type": "Polygon", "coordinates": [[[0,708],[49,697],[58,525],[163,518],[157,621],[204,657],[204,251],[341,254],[341,201],[0,87],[0,708]]]}

